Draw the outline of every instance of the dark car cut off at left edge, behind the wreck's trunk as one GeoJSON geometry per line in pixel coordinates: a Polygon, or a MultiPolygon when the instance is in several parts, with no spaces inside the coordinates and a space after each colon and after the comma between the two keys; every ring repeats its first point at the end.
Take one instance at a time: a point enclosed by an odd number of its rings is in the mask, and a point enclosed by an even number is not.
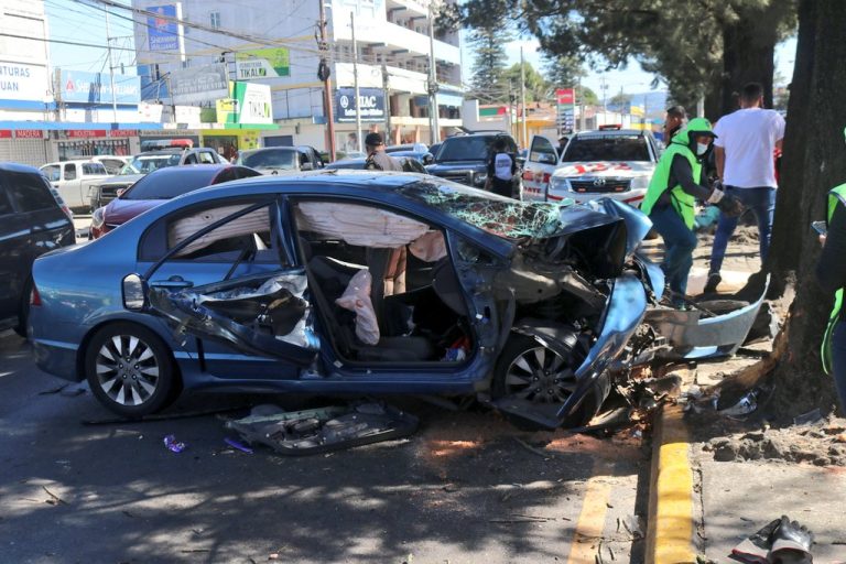
{"type": "Polygon", "coordinates": [[[44,175],[32,166],[0,163],[0,330],[25,335],[32,262],[74,245],[74,224],[44,175]]]}

